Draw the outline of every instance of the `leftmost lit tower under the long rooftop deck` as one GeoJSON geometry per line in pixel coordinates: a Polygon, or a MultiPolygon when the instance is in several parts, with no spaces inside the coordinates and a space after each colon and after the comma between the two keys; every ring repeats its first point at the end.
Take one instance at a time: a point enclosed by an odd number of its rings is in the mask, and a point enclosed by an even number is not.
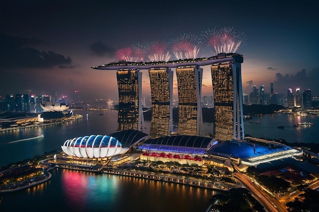
{"type": "Polygon", "coordinates": [[[142,73],[138,69],[118,69],[119,112],[117,130],[143,131],[142,73]]]}

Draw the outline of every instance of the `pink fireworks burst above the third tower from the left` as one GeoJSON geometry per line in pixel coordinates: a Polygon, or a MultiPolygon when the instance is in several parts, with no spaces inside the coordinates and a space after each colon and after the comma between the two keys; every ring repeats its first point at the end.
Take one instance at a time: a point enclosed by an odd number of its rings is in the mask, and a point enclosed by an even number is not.
{"type": "Polygon", "coordinates": [[[198,39],[194,35],[181,35],[171,41],[173,54],[177,59],[196,58],[199,52],[198,39]]]}

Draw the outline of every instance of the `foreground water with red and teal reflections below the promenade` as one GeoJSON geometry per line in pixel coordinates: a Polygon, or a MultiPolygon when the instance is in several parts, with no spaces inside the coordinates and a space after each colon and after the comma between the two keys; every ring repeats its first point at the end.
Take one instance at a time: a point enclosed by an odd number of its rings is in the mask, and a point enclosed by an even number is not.
{"type": "Polygon", "coordinates": [[[165,181],[68,169],[49,183],[0,194],[0,211],[205,211],[219,192],[165,181]],[[14,204],[19,202],[19,204],[14,204]]]}

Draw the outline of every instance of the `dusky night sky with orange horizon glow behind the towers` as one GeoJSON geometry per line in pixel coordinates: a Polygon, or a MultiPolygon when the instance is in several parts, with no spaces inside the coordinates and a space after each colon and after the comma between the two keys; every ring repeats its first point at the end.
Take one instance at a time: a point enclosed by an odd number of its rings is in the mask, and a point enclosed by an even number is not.
{"type": "MultiPolygon", "coordinates": [[[[2,1],[0,96],[57,92],[71,98],[79,90],[85,100],[117,100],[116,71],[92,66],[115,62],[116,50],[135,43],[201,37],[222,27],[245,34],[236,52],[244,56],[244,93],[260,84],[270,93],[273,82],[275,93],[300,87],[319,95],[317,0],[109,2],[2,1]]],[[[199,57],[216,54],[207,48],[199,57]]],[[[209,66],[203,68],[202,96],[210,96],[209,66]]],[[[148,99],[148,72],[141,71],[148,99]]]]}

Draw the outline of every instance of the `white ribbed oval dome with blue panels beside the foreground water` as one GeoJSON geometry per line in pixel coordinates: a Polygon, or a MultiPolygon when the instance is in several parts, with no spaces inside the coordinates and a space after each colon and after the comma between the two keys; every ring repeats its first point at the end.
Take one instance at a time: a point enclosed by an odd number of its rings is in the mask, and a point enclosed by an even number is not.
{"type": "Polygon", "coordinates": [[[78,158],[105,158],[127,152],[128,148],[114,137],[90,135],[68,139],[61,146],[63,152],[78,158]]]}

